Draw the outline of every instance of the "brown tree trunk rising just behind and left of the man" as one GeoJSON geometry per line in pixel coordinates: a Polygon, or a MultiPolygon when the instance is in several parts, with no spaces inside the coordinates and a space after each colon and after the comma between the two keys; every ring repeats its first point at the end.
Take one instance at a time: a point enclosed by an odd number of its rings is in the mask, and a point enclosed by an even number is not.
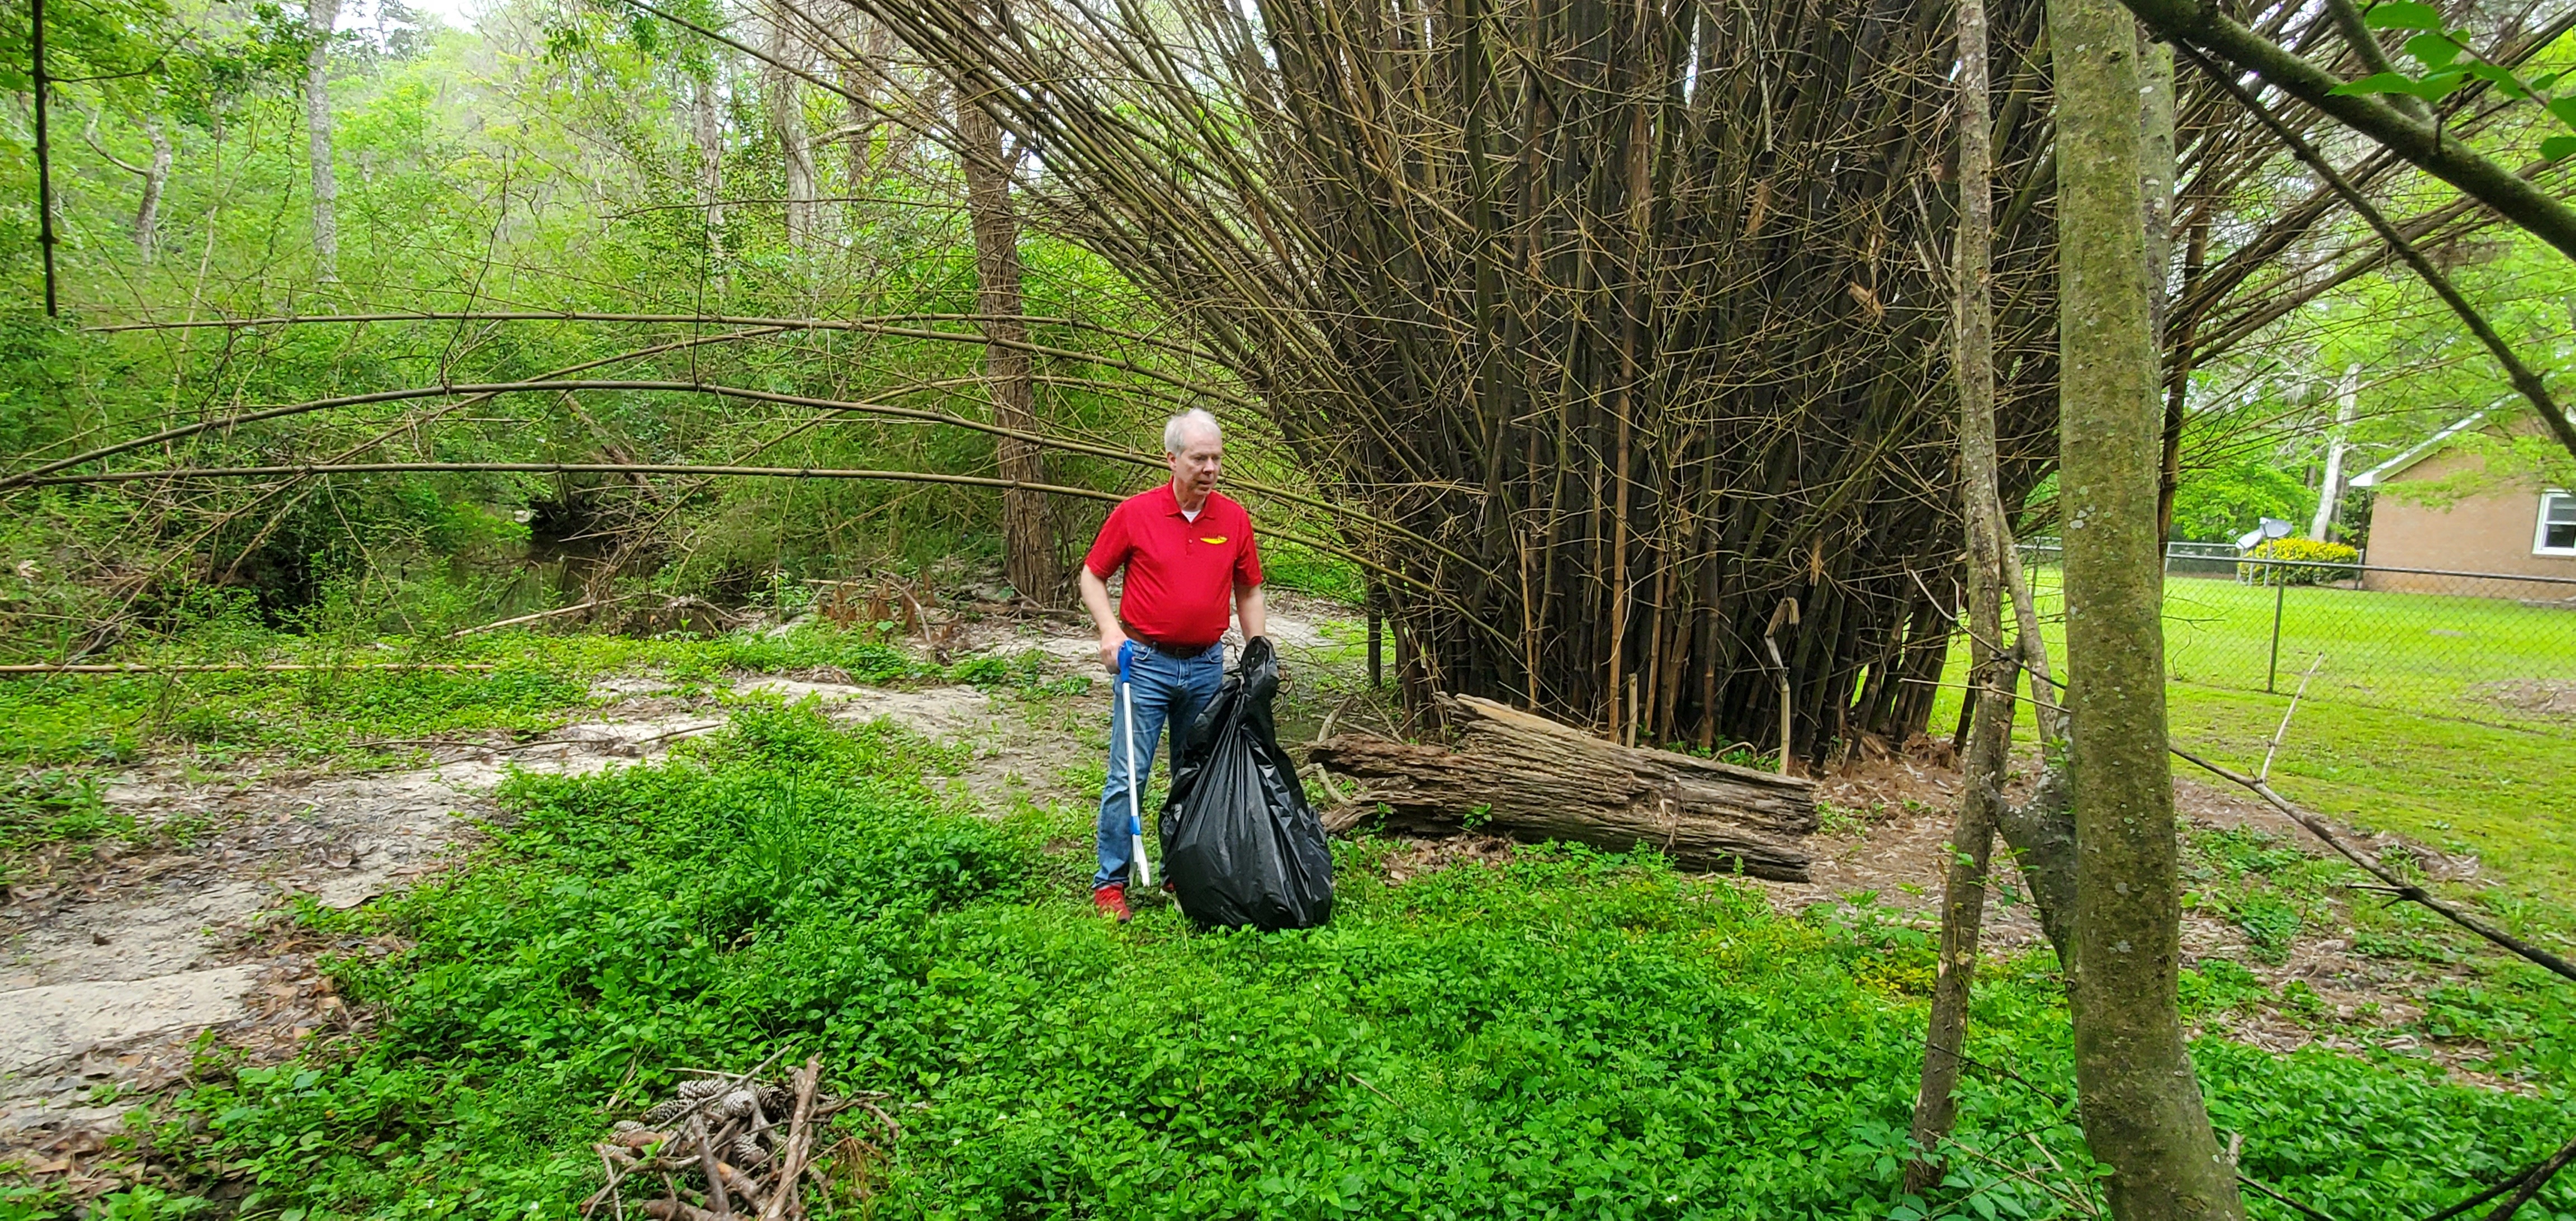
{"type": "MultiPolygon", "coordinates": [[[[969,98],[958,98],[958,144],[966,165],[966,214],[974,224],[976,312],[984,314],[984,386],[992,422],[1038,430],[1036,381],[1028,368],[1028,322],[1020,307],[1020,222],[1010,211],[1010,160],[1002,129],[969,98]]],[[[1002,479],[1046,482],[1038,446],[994,440],[1002,479]]],[[[1002,569],[1010,587],[1041,603],[1056,600],[1056,538],[1046,525],[1046,495],[1028,487],[1002,492],[1002,569]]]]}

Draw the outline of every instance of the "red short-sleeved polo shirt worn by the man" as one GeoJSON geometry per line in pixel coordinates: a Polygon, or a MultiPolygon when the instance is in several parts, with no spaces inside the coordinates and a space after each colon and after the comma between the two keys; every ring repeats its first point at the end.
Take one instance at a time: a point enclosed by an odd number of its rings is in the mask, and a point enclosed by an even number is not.
{"type": "Polygon", "coordinates": [[[1118,618],[1144,639],[1182,647],[1216,644],[1226,634],[1234,582],[1262,582],[1252,515],[1224,492],[1208,492],[1198,520],[1188,520],[1172,484],[1121,500],[1082,564],[1100,580],[1126,564],[1118,618]]]}

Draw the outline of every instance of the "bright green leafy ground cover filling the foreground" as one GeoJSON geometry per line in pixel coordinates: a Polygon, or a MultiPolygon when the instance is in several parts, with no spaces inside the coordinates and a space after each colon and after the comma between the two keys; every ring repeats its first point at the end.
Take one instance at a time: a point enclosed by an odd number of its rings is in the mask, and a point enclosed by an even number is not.
{"type": "MultiPolygon", "coordinates": [[[[165,1149],[252,1180],[255,1211],[572,1216],[613,1092],[788,1046],[899,1100],[904,1136],[845,1167],[835,1216],[1924,1211],[1896,1159],[1929,945],[1875,909],[1777,917],[1579,850],[1386,886],[1391,845],[1363,840],[1324,930],[1193,932],[1167,907],[1121,930],[1087,912],[1084,853],[1043,847],[1079,845],[1079,811],[976,817],[922,781],[956,755],[891,726],[734,724],[665,765],[515,781],[474,868],[314,914],[410,940],[340,966],[379,1036],[214,1074],[165,1149]]],[[[2094,1169],[2058,981],[2012,963],[1976,1018],[1976,1059],[2017,1077],[1971,1072],[1973,1154],[1927,1203],[2066,1216],[2012,1177],[2094,1169]]],[[[2427,1213],[2576,1123],[2555,1087],[2401,1056],[2197,1056],[2246,1169],[2336,1216],[2427,1213]]],[[[2576,1211],[2576,1185],[2545,1206],[2524,1216],[2576,1211]]]]}

